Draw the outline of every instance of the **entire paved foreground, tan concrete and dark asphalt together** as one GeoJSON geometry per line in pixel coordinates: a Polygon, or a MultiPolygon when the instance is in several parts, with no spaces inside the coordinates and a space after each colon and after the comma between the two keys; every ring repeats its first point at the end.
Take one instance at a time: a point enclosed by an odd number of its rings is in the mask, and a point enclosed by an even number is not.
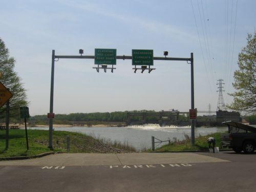
{"type": "Polygon", "coordinates": [[[255,162],[230,152],[58,154],[0,161],[0,191],[256,191],[255,162]]]}

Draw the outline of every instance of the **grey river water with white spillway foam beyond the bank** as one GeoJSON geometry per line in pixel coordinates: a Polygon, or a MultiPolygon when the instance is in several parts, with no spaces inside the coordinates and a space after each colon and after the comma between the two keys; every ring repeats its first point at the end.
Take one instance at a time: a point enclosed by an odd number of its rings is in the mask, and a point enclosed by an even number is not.
{"type": "MultiPolygon", "coordinates": [[[[49,127],[28,127],[28,129],[49,130],[49,127]]],[[[112,141],[128,142],[136,150],[141,151],[144,148],[151,148],[151,137],[155,136],[160,140],[178,140],[185,139],[185,134],[190,137],[190,126],[177,127],[165,126],[160,127],[158,124],[134,125],[128,127],[54,127],[56,131],[77,132],[93,137],[111,139],[112,141]]],[[[198,127],[195,130],[196,137],[205,136],[216,132],[226,132],[227,127],[198,127]]],[[[167,142],[163,143],[167,144],[167,142]]],[[[159,146],[161,146],[160,144],[159,146]]]]}

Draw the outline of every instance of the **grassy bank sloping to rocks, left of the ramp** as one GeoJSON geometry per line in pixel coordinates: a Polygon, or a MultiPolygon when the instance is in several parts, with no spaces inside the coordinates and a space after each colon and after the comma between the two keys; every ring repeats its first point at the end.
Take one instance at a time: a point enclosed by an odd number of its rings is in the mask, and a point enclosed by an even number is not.
{"type": "MultiPolygon", "coordinates": [[[[74,153],[126,153],[135,152],[128,143],[95,139],[79,133],[54,131],[54,152],[67,152],[67,136],[70,137],[70,150],[74,153]]],[[[48,148],[49,132],[28,130],[29,150],[26,148],[25,130],[9,130],[9,148],[5,150],[5,131],[0,131],[0,157],[33,156],[50,152],[48,148]]]]}

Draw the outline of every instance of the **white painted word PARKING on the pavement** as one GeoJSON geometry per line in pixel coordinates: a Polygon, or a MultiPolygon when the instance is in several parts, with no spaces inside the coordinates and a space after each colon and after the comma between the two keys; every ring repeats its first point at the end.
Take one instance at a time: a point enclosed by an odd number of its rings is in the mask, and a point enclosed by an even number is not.
{"type": "Polygon", "coordinates": [[[156,167],[190,167],[189,163],[156,164],[156,165],[110,165],[110,168],[156,168],[156,167]]]}

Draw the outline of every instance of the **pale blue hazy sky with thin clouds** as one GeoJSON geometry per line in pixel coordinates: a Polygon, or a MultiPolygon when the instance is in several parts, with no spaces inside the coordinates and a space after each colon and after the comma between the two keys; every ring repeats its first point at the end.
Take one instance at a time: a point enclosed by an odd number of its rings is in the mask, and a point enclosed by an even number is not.
{"type": "MultiPolygon", "coordinates": [[[[194,53],[195,108],[217,109],[217,80],[224,102],[247,34],[256,25],[254,0],[1,1],[0,38],[16,59],[31,115],[49,113],[51,54],[94,55],[95,48],[154,50],[154,56],[194,53]]],[[[190,109],[190,65],[154,61],[150,74],[117,60],[114,73],[96,72],[93,59],[55,62],[54,113],[190,109]]],[[[0,69],[1,70],[1,69],[0,69]]]]}

